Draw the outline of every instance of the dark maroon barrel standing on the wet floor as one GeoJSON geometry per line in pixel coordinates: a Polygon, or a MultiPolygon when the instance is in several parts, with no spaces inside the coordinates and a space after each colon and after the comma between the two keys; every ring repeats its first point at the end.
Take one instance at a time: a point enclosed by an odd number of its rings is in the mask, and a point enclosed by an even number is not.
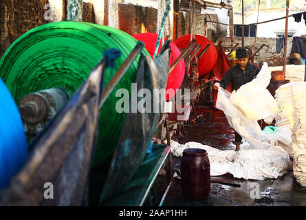
{"type": "Polygon", "coordinates": [[[182,192],[185,199],[202,200],[210,192],[210,163],[204,149],[187,148],[181,162],[182,192]]]}

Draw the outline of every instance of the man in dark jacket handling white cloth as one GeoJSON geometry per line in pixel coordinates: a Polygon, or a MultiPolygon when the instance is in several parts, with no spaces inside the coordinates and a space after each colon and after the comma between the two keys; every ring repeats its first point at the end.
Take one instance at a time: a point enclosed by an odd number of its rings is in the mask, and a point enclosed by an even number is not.
{"type": "MultiPolygon", "coordinates": [[[[232,84],[232,91],[237,90],[244,85],[245,83],[249,83],[254,78],[256,78],[259,73],[259,67],[252,63],[248,63],[248,53],[244,48],[239,48],[236,51],[236,58],[238,64],[234,67],[228,69],[225,76],[220,81],[220,86],[223,89],[226,89],[230,83],[232,84]]],[[[214,89],[218,89],[217,86],[214,85],[214,89]]],[[[239,151],[239,146],[242,144],[242,137],[234,131],[234,142],[236,145],[236,151],[239,151]]]]}

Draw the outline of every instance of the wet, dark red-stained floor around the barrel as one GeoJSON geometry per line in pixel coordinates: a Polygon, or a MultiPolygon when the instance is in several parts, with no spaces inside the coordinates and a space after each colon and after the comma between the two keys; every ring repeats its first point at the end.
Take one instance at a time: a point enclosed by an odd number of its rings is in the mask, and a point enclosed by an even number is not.
{"type": "MultiPolygon", "coordinates": [[[[186,124],[182,129],[182,136],[175,136],[173,140],[179,144],[199,142],[220,150],[235,149],[232,144],[234,129],[228,124],[223,111],[200,107],[197,113],[203,114],[197,124],[186,124]]],[[[241,148],[245,146],[248,146],[248,142],[243,140],[241,148]]],[[[179,174],[181,157],[173,156],[172,160],[173,170],[179,174]]],[[[163,206],[306,206],[306,187],[296,182],[292,172],[277,179],[263,181],[237,179],[230,174],[211,177],[211,181],[210,194],[206,199],[188,201],[182,195],[180,179],[173,178],[173,184],[163,206]]],[[[167,184],[166,175],[157,176],[153,186],[157,205],[164,195],[167,184]]]]}

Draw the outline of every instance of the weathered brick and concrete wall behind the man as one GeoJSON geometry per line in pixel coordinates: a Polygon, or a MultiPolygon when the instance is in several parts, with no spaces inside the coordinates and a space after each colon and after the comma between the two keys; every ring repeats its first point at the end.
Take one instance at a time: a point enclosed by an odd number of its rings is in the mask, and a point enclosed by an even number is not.
{"type": "MultiPolygon", "coordinates": [[[[244,44],[245,47],[249,47],[252,52],[254,52],[254,37],[245,37],[244,44]]],[[[229,37],[221,37],[222,46],[225,49],[230,50],[230,38],[229,37]]],[[[241,45],[241,37],[234,38],[234,45],[239,43],[241,45]]],[[[256,48],[259,48],[262,44],[265,46],[259,51],[258,55],[254,58],[254,63],[261,64],[263,62],[267,62],[269,66],[281,66],[283,65],[283,50],[281,50],[280,54],[276,53],[276,38],[257,38],[256,39],[256,48]]],[[[289,61],[289,56],[291,54],[293,39],[288,38],[287,41],[287,63],[289,61]]],[[[239,47],[239,46],[238,46],[239,47]]]]}

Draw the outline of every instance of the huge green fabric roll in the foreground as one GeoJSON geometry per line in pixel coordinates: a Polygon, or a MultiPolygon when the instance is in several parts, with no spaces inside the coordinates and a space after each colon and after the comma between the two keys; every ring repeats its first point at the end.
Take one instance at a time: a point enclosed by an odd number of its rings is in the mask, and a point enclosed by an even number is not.
{"type": "MultiPolygon", "coordinates": [[[[109,48],[122,52],[113,71],[105,72],[105,87],[137,41],[129,34],[92,23],[61,21],[41,25],[23,34],[8,48],[0,61],[0,76],[16,103],[23,96],[61,87],[71,94],[85,81],[109,48]]],[[[144,54],[149,53],[144,49],[144,54]]],[[[94,166],[113,153],[124,122],[124,113],[116,112],[116,90],[130,91],[135,82],[138,59],[117,85],[100,110],[99,137],[94,166]]]]}

